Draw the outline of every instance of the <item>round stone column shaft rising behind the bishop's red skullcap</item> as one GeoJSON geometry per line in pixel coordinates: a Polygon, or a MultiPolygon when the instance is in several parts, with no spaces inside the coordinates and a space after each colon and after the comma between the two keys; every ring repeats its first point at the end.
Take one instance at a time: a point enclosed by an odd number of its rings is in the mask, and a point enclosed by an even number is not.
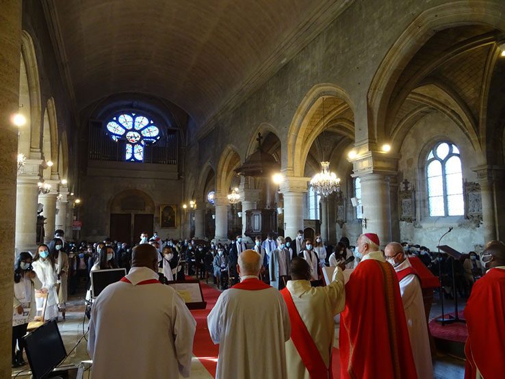
{"type": "Polygon", "coordinates": [[[384,174],[365,174],[361,178],[361,203],[366,228],[363,233],[376,233],[380,246],[391,241],[391,206],[389,177],[384,174]]]}

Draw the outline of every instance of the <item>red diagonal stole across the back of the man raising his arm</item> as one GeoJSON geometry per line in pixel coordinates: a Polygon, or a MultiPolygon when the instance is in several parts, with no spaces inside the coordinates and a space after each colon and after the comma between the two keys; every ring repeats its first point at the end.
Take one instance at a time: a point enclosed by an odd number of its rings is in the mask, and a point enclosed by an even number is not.
{"type": "Polygon", "coordinates": [[[295,345],[296,351],[300,354],[300,358],[302,358],[303,365],[305,365],[305,368],[309,371],[311,378],[331,379],[331,358],[330,367],[326,368],[318,347],[315,345],[305,322],[303,322],[302,317],[300,317],[298,309],[296,309],[291,293],[287,288],[284,288],[281,294],[286,302],[289,320],[291,321],[291,339],[295,345]]]}

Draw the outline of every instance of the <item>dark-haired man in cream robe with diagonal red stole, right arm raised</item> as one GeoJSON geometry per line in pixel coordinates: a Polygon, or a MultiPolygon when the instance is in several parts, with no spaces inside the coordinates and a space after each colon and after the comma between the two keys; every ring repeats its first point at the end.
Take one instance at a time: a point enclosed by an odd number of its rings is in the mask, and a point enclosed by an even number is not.
{"type": "Polygon", "coordinates": [[[333,317],[346,305],[344,274],[341,267],[336,267],[332,283],[326,287],[311,287],[311,267],[305,259],[294,258],[290,270],[293,280],[289,280],[281,291],[292,322],[292,338],[286,342],[287,376],[298,379],[331,378],[335,334],[333,317]],[[305,333],[296,333],[297,330],[305,333]],[[310,372],[307,367],[311,367],[310,372]]]}

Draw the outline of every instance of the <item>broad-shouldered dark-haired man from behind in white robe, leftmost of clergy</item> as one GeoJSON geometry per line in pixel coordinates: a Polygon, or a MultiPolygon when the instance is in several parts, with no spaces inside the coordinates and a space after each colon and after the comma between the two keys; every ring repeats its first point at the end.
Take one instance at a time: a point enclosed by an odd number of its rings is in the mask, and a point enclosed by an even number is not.
{"type": "Polygon", "coordinates": [[[196,322],[181,296],[159,283],[157,250],[133,248],[132,267],[106,287],[91,312],[92,378],[190,376],[196,322]]]}

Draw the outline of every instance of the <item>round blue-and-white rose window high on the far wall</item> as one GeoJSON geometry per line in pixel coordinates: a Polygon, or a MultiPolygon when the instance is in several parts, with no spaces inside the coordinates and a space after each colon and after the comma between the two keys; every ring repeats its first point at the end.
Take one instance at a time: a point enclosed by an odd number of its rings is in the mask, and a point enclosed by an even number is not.
{"type": "Polygon", "coordinates": [[[107,123],[107,132],[115,142],[126,140],[125,159],[144,161],[144,146],[159,140],[159,128],[153,120],[135,113],[121,113],[107,123]]]}

